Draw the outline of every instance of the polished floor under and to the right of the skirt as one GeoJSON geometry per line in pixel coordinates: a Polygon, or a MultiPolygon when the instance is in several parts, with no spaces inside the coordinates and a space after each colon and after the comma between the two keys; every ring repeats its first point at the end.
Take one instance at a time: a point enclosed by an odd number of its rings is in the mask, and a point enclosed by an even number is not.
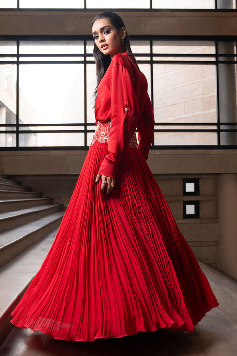
{"type": "Polygon", "coordinates": [[[14,327],[1,356],[236,356],[237,282],[200,262],[220,303],[193,332],[168,329],[93,342],[55,340],[39,331],[14,327]]]}

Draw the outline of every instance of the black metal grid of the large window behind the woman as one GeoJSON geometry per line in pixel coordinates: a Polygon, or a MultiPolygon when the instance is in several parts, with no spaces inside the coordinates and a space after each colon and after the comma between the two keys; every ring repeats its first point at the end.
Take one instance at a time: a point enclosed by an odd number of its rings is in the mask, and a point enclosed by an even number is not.
{"type": "MultiPolygon", "coordinates": [[[[130,36],[131,40],[149,40],[150,42],[150,53],[136,53],[135,56],[137,57],[137,62],[141,64],[150,64],[150,74],[151,74],[151,102],[152,105],[154,104],[154,88],[153,88],[153,64],[205,64],[205,65],[215,65],[216,66],[216,94],[217,94],[217,103],[216,103],[216,111],[217,111],[217,122],[213,123],[164,123],[164,122],[155,122],[155,126],[170,126],[170,129],[154,129],[155,132],[214,132],[217,134],[217,144],[216,145],[155,145],[154,138],[151,145],[151,149],[232,149],[237,147],[237,145],[221,145],[220,136],[221,132],[237,132],[237,123],[230,122],[224,123],[220,122],[220,114],[219,114],[219,80],[218,80],[218,64],[237,64],[237,55],[236,54],[219,54],[218,53],[218,41],[234,41],[235,46],[237,45],[237,37],[236,36],[130,36]],[[214,54],[177,54],[177,53],[153,53],[153,41],[155,40],[165,40],[165,41],[177,41],[177,40],[185,40],[185,41],[214,41],[215,43],[215,53],[214,54]],[[147,60],[139,60],[139,57],[147,57],[147,60]],[[159,60],[159,57],[185,57],[188,60],[159,60]],[[202,58],[202,60],[194,60],[192,58],[202,58]],[[205,59],[212,57],[213,60],[205,59]],[[223,58],[235,58],[234,60],[230,61],[223,61],[219,60],[219,57],[223,58]],[[172,126],[186,126],[187,128],[173,128],[172,126]],[[190,129],[189,126],[212,126],[212,129],[190,129]],[[222,128],[225,126],[225,128],[222,128]],[[228,126],[228,129],[226,129],[228,126]]],[[[0,147],[0,151],[9,151],[9,150],[87,150],[89,147],[90,142],[87,142],[87,133],[94,132],[94,129],[89,129],[90,126],[95,126],[94,123],[87,122],[87,91],[86,91],[86,68],[87,64],[94,63],[92,61],[88,61],[87,58],[93,58],[93,54],[86,52],[86,45],[87,41],[92,40],[92,36],[0,36],[1,40],[9,40],[9,41],[16,41],[17,45],[17,53],[16,54],[0,54],[0,58],[4,57],[13,57],[16,58],[15,61],[1,61],[1,64],[15,64],[17,66],[17,79],[16,79],[16,123],[14,124],[0,124],[0,134],[16,134],[16,146],[15,147],[0,147]],[[43,41],[43,40],[75,40],[75,41],[82,41],[84,44],[84,53],[79,54],[20,54],[19,46],[20,41],[43,41]],[[83,60],[70,60],[70,57],[83,57],[83,60]],[[28,57],[68,57],[68,60],[39,60],[39,61],[27,61],[28,57]],[[20,61],[20,58],[26,58],[24,61],[20,61]],[[61,124],[23,124],[20,123],[19,120],[19,65],[24,64],[83,64],[84,65],[84,123],[61,123],[61,124]],[[59,127],[60,126],[78,126],[79,129],[75,130],[20,130],[20,128],[27,128],[27,127],[59,127]],[[15,130],[7,130],[1,131],[2,127],[15,127],[15,130]],[[19,147],[19,134],[23,133],[84,133],[84,145],[83,146],[47,146],[47,147],[19,147]]]]}

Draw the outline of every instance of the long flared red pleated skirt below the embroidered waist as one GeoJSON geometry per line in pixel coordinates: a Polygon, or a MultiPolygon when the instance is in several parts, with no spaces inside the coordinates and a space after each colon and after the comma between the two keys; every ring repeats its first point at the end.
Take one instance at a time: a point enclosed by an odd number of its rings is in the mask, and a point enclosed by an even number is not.
{"type": "Polygon", "coordinates": [[[218,302],[140,149],[128,146],[109,197],[95,183],[108,143],[90,146],[70,203],[12,324],[93,341],[194,330],[218,302]]]}

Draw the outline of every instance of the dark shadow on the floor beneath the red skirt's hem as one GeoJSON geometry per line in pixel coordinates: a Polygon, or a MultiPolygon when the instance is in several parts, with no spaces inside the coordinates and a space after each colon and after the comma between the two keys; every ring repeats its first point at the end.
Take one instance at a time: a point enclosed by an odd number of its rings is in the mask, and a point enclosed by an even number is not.
{"type": "MultiPolygon", "coordinates": [[[[18,330],[17,334],[18,356],[194,356],[208,354],[206,352],[215,342],[205,330],[175,332],[161,329],[122,338],[96,339],[92,342],[56,340],[40,331],[32,332],[29,329],[21,329],[21,335],[18,330]]],[[[15,341],[17,342],[16,338],[15,341]]],[[[1,354],[10,355],[8,351],[10,350],[4,347],[1,354]]]]}

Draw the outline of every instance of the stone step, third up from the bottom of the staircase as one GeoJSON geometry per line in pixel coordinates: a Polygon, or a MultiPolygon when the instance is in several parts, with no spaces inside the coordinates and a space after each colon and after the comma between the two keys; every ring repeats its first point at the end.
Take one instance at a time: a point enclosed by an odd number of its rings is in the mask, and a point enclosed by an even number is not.
{"type": "Polygon", "coordinates": [[[0,213],[0,232],[7,231],[19,225],[26,224],[34,219],[42,218],[57,211],[63,210],[63,204],[48,204],[33,206],[28,209],[0,213]]]}

